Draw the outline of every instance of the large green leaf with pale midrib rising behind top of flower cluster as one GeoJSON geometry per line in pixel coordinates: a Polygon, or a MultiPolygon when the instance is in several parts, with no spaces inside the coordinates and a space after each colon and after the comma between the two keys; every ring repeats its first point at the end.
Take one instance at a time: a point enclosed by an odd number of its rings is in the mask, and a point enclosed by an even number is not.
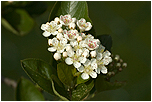
{"type": "MultiPolygon", "coordinates": [[[[88,16],[88,5],[86,1],[58,1],[54,5],[48,21],[54,20],[55,17],[60,17],[60,15],[66,15],[70,14],[72,17],[75,17],[76,19],[84,18],[87,22],[91,22],[93,25],[91,19],[88,16]]],[[[95,30],[94,27],[87,32],[91,33],[95,36],[95,30]]]]}

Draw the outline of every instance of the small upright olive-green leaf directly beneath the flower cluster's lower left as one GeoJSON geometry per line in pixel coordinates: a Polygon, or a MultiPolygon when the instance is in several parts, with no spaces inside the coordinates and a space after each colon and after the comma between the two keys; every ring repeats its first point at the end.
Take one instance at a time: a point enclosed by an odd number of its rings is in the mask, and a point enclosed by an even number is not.
{"type": "Polygon", "coordinates": [[[67,65],[65,63],[59,63],[57,65],[57,73],[58,73],[58,77],[60,79],[60,81],[62,83],[64,83],[65,85],[68,86],[73,86],[74,82],[74,76],[72,74],[72,70],[74,69],[74,67],[71,65],[67,65]]]}

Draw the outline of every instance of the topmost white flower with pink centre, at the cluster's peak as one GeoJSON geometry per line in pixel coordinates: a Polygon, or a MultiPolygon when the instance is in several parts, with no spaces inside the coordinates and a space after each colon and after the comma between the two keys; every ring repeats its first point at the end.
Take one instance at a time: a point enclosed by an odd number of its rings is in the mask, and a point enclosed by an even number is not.
{"type": "Polygon", "coordinates": [[[70,25],[70,23],[75,22],[76,18],[71,18],[71,15],[64,15],[64,16],[60,16],[60,23],[68,26],[70,25]]]}

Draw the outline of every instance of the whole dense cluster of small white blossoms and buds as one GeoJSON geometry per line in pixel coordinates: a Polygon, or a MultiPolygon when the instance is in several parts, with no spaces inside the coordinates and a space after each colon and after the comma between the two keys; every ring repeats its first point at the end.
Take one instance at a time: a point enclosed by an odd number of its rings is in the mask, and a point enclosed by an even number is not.
{"type": "Polygon", "coordinates": [[[104,51],[105,47],[100,41],[91,34],[85,34],[85,31],[91,28],[91,23],[86,22],[84,18],[76,20],[71,18],[71,15],[61,15],[60,18],[56,17],[54,21],[41,26],[44,37],[54,37],[48,39],[48,50],[55,52],[54,59],[64,57],[65,63],[73,64],[77,71],[82,73],[83,79],[88,79],[89,76],[96,78],[100,72],[106,74],[105,65],[112,62],[111,53],[104,51]]]}

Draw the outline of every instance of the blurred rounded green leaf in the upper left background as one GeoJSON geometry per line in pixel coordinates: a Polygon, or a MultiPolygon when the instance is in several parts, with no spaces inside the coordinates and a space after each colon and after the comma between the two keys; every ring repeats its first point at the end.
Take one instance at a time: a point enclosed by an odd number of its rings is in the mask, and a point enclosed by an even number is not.
{"type": "Polygon", "coordinates": [[[27,34],[34,26],[33,19],[23,9],[11,9],[3,14],[2,25],[16,35],[27,34]]]}

